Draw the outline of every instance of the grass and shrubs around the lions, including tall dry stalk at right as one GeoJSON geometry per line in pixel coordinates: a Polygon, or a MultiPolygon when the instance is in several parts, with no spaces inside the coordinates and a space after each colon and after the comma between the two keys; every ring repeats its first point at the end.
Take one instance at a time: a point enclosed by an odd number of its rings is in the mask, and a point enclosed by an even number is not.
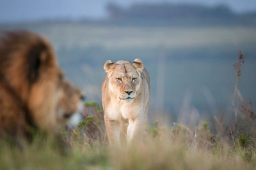
{"type": "Polygon", "coordinates": [[[215,117],[195,130],[183,124],[149,125],[142,143],[109,148],[100,104],[84,103],[83,122],[58,137],[38,133],[31,143],[0,140],[0,169],[256,169],[255,113],[239,82],[244,63],[234,65],[234,122],[215,117]],[[239,73],[239,74],[238,74],[239,73]]]}

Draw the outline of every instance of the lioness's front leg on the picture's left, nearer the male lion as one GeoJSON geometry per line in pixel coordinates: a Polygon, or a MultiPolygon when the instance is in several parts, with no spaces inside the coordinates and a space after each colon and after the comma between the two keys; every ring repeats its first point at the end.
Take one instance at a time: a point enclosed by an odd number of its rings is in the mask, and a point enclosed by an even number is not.
{"type": "Polygon", "coordinates": [[[120,123],[115,120],[110,120],[104,115],[106,131],[108,134],[109,144],[111,146],[120,146],[120,123]]]}

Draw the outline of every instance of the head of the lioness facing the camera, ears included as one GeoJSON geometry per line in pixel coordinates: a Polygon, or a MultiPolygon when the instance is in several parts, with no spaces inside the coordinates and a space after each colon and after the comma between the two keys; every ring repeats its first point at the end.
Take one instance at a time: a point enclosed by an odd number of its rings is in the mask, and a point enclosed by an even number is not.
{"type": "Polygon", "coordinates": [[[120,60],[113,63],[107,60],[104,69],[108,73],[109,89],[118,97],[118,100],[124,103],[132,102],[140,89],[142,61],[140,59],[135,59],[134,62],[120,60]]]}

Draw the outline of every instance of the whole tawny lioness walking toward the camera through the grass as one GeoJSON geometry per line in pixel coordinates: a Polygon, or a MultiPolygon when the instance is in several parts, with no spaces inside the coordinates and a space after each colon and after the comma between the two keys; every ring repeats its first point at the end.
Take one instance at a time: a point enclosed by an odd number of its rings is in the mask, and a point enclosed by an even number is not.
{"type": "Polygon", "coordinates": [[[140,59],[134,62],[106,61],[102,83],[102,106],[110,145],[121,145],[124,132],[127,143],[140,141],[147,125],[150,84],[140,59]],[[128,122],[129,125],[125,125],[128,122]]]}

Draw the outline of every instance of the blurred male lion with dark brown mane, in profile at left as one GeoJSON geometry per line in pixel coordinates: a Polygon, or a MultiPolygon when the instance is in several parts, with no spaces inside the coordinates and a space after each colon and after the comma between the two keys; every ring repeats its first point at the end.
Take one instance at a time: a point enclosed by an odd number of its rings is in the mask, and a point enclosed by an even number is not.
{"type": "Polygon", "coordinates": [[[37,128],[56,132],[83,106],[82,98],[47,39],[27,31],[1,35],[0,136],[30,137],[37,128]]]}

